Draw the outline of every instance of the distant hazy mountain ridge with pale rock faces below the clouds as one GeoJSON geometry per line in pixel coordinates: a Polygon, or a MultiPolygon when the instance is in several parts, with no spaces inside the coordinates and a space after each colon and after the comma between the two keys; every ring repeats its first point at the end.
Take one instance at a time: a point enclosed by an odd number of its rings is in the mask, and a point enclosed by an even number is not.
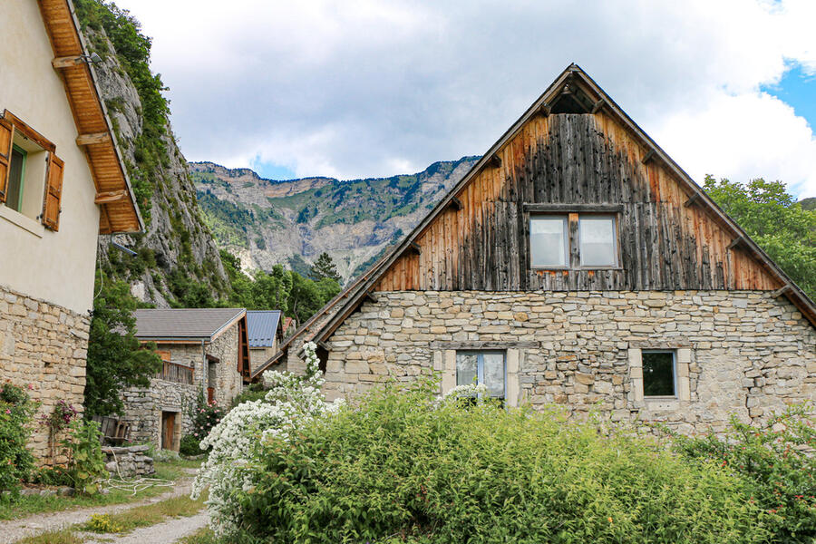
{"type": "Polygon", "coordinates": [[[199,208],[219,247],[245,270],[306,272],[322,252],[348,280],[423,219],[478,157],[391,178],[266,180],[253,170],[190,162],[199,208]]]}

